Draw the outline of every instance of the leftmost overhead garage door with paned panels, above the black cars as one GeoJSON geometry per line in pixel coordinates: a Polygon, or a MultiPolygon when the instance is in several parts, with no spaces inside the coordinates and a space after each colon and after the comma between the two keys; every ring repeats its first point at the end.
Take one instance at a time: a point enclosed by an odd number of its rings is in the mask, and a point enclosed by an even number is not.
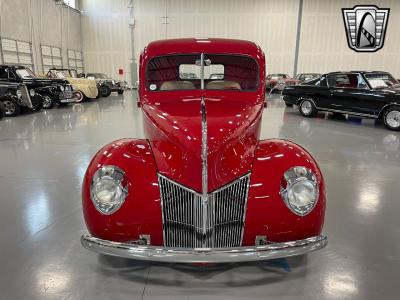
{"type": "Polygon", "coordinates": [[[4,64],[22,65],[33,70],[32,47],[28,42],[1,39],[4,64]]]}

